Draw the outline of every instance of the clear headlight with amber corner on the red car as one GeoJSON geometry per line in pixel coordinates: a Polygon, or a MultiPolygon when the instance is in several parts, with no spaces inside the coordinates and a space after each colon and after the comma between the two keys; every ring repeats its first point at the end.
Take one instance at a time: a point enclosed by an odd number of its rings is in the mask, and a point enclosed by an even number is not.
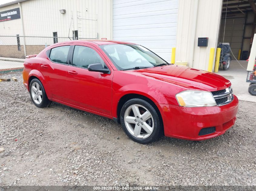
{"type": "Polygon", "coordinates": [[[176,99],[183,107],[216,106],[211,92],[186,90],[176,94],[176,99]]]}

